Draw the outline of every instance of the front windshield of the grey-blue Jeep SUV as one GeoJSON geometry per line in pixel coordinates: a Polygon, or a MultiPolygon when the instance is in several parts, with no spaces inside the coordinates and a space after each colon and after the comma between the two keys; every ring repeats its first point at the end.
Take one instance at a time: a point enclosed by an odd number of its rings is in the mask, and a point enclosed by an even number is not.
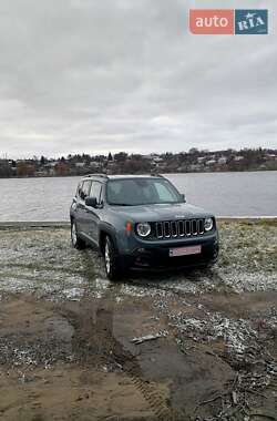
{"type": "Polygon", "coordinates": [[[183,202],[176,188],[164,178],[112,179],[107,183],[110,205],[136,206],[183,202]]]}

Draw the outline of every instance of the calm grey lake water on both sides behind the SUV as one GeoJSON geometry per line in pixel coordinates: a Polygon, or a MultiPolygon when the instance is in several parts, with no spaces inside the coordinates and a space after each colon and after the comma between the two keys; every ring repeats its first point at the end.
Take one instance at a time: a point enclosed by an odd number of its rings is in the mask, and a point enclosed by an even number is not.
{"type": "MultiPolygon", "coordinates": [[[[188,203],[216,216],[276,216],[277,172],[168,174],[188,203]]],[[[80,177],[0,178],[0,220],[69,220],[80,177]]]]}

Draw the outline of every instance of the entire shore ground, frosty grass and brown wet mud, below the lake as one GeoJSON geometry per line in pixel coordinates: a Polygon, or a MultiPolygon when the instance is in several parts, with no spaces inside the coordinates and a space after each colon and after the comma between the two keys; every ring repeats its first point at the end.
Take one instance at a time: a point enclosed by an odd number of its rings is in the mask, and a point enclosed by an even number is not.
{"type": "Polygon", "coordinates": [[[113,284],[68,228],[1,229],[0,420],[276,420],[277,223],[220,247],[113,284]]]}

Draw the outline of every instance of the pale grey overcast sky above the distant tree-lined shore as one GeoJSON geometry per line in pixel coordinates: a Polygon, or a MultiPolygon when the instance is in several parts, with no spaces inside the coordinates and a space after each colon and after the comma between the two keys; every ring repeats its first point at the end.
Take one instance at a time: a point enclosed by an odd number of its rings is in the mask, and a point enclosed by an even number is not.
{"type": "Polygon", "coordinates": [[[277,147],[276,0],[0,2],[0,156],[277,147]],[[270,35],[192,35],[189,8],[270,35]]]}

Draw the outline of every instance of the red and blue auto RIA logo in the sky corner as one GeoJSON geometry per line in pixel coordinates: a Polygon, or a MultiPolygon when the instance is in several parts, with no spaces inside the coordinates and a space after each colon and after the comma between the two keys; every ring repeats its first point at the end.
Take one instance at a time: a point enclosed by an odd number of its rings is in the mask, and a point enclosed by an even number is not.
{"type": "Polygon", "coordinates": [[[267,9],[191,9],[189,31],[197,35],[268,33],[267,9]]]}

